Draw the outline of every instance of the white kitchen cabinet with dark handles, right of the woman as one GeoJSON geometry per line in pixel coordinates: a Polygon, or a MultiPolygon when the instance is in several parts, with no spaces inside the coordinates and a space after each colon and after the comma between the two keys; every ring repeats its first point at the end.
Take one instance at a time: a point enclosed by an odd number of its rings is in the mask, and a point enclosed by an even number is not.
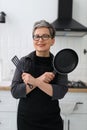
{"type": "Polygon", "coordinates": [[[67,93],[60,108],[64,130],[87,130],[87,93],[67,93]]]}

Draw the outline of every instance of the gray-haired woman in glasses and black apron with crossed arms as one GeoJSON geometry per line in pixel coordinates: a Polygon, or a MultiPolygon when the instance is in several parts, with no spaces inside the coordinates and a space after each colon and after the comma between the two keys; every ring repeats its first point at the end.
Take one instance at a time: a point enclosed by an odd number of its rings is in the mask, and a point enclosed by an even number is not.
{"type": "Polygon", "coordinates": [[[20,99],[17,113],[17,130],[63,130],[59,101],[66,94],[67,75],[53,73],[55,29],[45,20],[34,24],[35,50],[20,59],[15,71],[11,93],[20,99]]]}

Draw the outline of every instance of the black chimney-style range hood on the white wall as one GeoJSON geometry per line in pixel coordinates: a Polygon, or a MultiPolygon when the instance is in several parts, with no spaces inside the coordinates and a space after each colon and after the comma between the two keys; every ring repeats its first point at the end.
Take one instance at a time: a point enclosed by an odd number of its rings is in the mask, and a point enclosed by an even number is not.
{"type": "Polygon", "coordinates": [[[87,27],[72,19],[73,0],[59,0],[58,18],[52,23],[56,36],[82,37],[87,34],[87,27]]]}

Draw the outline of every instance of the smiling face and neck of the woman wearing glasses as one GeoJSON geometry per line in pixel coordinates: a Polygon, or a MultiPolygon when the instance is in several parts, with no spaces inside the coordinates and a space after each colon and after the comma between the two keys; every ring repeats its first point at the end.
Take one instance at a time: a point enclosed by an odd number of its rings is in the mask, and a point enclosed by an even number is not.
{"type": "Polygon", "coordinates": [[[36,55],[37,56],[48,57],[50,47],[55,42],[55,39],[51,38],[49,29],[46,28],[46,27],[37,28],[34,31],[34,36],[35,36],[35,39],[33,37],[33,43],[34,43],[34,48],[36,50],[36,55]],[[42,36],[42,37],[38,38],[39,36],[42,36]]]}

